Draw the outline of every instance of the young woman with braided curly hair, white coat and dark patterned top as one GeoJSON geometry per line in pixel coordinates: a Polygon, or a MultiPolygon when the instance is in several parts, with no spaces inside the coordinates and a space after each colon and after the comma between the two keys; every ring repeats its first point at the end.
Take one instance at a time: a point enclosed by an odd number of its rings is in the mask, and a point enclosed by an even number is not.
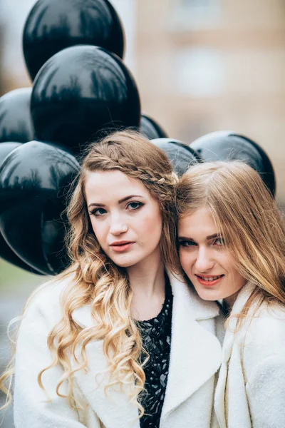
{"type": "Polygon", "coordinates": [[[219,308],[173,275],[176,184],[138,133],[90,146],[67,211],[71,266],[21,321],[16,428],[215,427],[219,308]]]}

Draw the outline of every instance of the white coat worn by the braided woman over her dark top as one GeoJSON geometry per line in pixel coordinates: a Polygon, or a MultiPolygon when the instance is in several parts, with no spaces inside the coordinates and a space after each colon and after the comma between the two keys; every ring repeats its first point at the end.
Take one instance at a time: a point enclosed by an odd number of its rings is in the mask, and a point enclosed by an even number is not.
{"type": "MultiPolygon", "coordinates": [[[[96,374],[107,367],[102,340],[86,347],[90,370],[76,373],[76,400],[86,409],[75,410],[55,393],[61,366],[43,374],[43,385],[51,397],[38,387],[38,372],[51,364],[46,344],[48,333],[61,318],[59,297],[68,286],[64,280],[48,285],[28,305],[21,322],[16,349],[14,422],[16,428],[139,428],[138,408],[120,391],[104,392],[105,381],[95,383],[96,374]]],[[[215,336],[219,308],[204,302],[183,282],[170,277],[173,292],[172,343],[170,369],[161,428],[217,427],[214,417],[214,380],[222,360],[222,347],[215,336]]],[[[75,310],[73,320],[91,327],[90,306],[75,310]]],[[[63,392],[63,389],[60,390],[63,392]]]]}

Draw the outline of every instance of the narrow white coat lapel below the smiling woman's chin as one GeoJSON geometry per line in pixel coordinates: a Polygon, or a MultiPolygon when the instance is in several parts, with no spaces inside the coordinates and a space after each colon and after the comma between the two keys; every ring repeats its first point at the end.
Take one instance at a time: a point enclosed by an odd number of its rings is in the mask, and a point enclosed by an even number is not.
{"type": "Polygon", "coordinates": [[[232,312],[230,314],[232,319],[229,320],[227,331],[224,335],[224,343],[222,346],[222,365],[219,370],[219,379],[214,395],[214,410],[219,421],[220,428],[227,428],[227,415],[225,413],[227,370],[234,346],[234,330],[237,327],[237,317],[234,317],[234,315],[241,312],[253,288],[254,285],[250,282],[242,287],[242,290],[239,292],[237,300],[234,302],[234,306],[232,307],[232,312]]]}

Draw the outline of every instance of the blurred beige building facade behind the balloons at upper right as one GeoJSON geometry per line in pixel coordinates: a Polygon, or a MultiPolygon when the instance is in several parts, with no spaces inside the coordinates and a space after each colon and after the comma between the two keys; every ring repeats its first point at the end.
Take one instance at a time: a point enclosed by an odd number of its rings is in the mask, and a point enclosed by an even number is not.
{"type": "Polygon", "coordinates": [[[138,0],[142,108],[172,138],[234,130],[266,150],[285,203],[283,0],[138,0]]]}

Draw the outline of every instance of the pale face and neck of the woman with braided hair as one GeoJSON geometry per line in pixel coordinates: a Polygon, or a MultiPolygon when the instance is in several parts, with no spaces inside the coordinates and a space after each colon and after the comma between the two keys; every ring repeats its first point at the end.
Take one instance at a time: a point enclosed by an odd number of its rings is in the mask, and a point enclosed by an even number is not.
{"type": "Polygon", "coordinates": [[[128,270],[133,317],[156,317],[165,300],[162,215],[157,200],[140,180],[119,170],[88,173],[85,193],[101,248],[116,265],[128,270]]]}

